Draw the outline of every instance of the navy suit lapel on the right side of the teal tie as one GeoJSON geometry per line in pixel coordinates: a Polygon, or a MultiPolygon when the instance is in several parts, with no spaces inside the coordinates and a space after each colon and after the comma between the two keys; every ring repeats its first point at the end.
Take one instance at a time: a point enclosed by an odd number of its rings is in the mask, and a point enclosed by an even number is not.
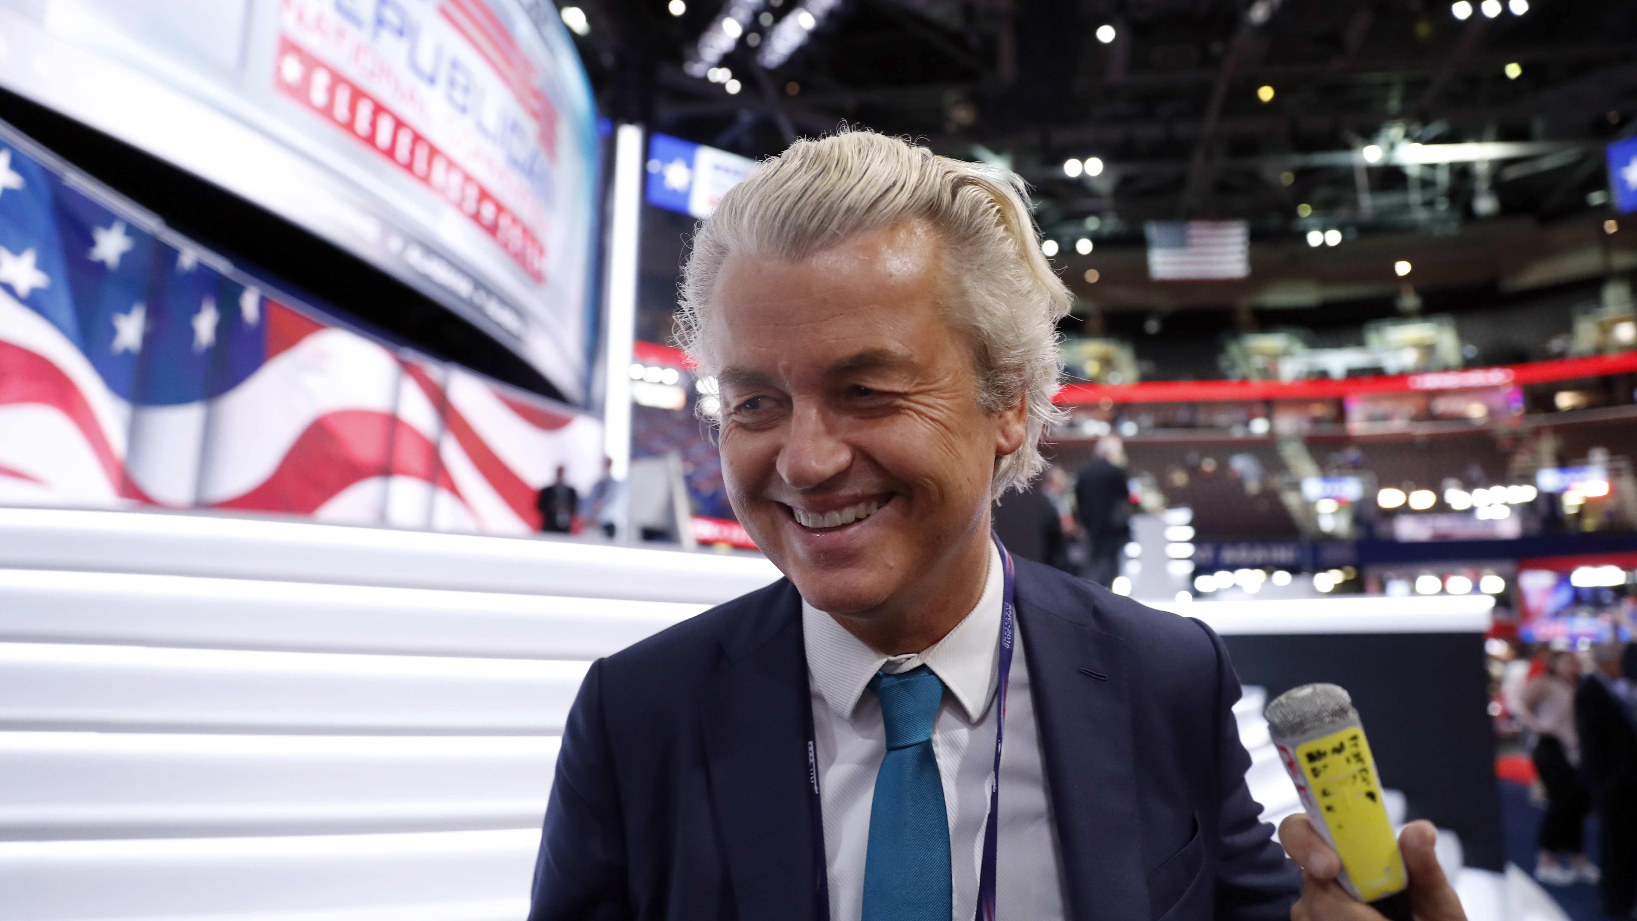
{"type": "Polygon", "coordinates": [[[1069,916],[1148,918],[1123,642],[1041,606],[1043,595],[1049,587],[1020,567],[1018,626],[1039,715],[1069,916]]]}

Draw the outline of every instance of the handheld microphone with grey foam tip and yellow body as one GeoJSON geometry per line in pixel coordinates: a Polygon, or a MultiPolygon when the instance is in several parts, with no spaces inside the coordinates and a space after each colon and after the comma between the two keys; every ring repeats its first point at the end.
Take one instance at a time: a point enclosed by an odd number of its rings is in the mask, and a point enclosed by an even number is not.
{"type": "Polygon", "coordinates": [[[1388,919],[1413,921],[1405,857],[1352,698],[1337,685],[1301,685],[1278,695],[1264,716],[1308,821],[1341,857],[1336,882],[1388,919]]]}

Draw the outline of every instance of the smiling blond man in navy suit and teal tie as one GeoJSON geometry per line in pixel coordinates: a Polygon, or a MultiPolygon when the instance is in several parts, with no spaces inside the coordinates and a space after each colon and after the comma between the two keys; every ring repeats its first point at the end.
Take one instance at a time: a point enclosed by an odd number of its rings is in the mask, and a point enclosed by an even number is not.
{"type": "MultiPolygon", "coordinates": [[[[855,131],[722,198],[684,344],[786,578],[591,665],[532,921],[1292,918],[1221,641],[990,539],[1067,303],[1005,170],[855,131]]],[[[1283,837],[1298,918],[1380,918],[1283,837]]],[[[1423,921],[1460,918],[1431,828],[1405,846],[1423,921]]]]}

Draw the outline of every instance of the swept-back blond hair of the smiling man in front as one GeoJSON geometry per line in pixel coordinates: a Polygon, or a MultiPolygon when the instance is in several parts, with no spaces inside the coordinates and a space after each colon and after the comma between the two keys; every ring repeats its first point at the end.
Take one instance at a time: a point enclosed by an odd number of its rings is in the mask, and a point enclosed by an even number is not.
{"type": "Polygon", "coordinates": [[[1071,305],[1025,202],[1015,172],[940,157],[899,138],[850,129],[796,141],[701,221],[683,269],[679,344],[699,374],[720,370],[710,302],[735,252],[799,262],[869,231],[927,221],[949,247],[953,297],[943,306],[972,341],[979,405],[999,413],[1026,402],[1021,447],[995,462],[990,492],[1000,497],[1044,467],[1039,439],[1061,416],[1053,403],[1062,369],[1056,329],[1071,305]]]}

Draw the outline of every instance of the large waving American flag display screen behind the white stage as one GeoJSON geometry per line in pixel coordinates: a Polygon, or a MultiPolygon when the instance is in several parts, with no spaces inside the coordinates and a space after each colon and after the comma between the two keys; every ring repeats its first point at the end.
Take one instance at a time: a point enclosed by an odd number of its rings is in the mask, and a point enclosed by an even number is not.
{"type": "Polygon", "coordinates": [[[0,131],[0,501],[481,533],[601,423],[345,329],[0,131]]]}

